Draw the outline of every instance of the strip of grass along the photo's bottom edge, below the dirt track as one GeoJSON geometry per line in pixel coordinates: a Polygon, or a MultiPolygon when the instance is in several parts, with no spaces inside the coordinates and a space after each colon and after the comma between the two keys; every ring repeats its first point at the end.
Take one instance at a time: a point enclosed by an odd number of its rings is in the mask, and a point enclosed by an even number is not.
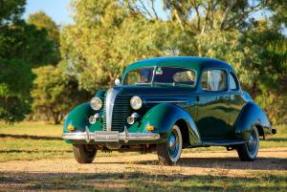
{"type": "MultiPolygon", "coordinates": [[[[63,191],[282,191],[287,175],[255,173],[246,176],[142,173],[10,173],[0,181],[18,184],[21,190],[63,191]],[[64,179],[63,179],[64,178],[64,179]],[[25,184],[25,185],[24,185],[25,184]]],[[[1,182],[0,182],[1,184],[1,182]]],[[[11,185],[13,186],[13,185],[11,185]]],[[[5,190],[4,188],[2,188],[5,190]]],[[[11,188],[8,188],[11,190],[11,188]]]]}

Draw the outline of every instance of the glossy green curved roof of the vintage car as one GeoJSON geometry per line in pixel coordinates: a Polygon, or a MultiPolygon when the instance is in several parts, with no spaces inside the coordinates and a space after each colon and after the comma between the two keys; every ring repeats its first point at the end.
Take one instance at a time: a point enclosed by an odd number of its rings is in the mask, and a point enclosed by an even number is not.
{"type": "Polygon", "coordinates": [[[129,65],[125,72],[142,68],[142,67],[182,67],[190,69],[202,69],[202,68],[225,68],[233,70],[232,67],[224,61],[208,58],[208,57],[194,57],[194,56],[176,56],[176,57],[155,57],[150,59],[144,59],[137,61],[129,65]]]}

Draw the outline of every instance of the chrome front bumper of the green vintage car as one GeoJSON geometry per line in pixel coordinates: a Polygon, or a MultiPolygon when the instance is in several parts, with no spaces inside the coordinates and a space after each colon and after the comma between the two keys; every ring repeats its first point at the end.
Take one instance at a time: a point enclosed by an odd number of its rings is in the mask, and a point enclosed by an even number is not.
{"type": "Polygon", "coordinates": [[[156,141],[160,139],[160,134],[158,133],[129,133],[125,128],[123,132],[118,131],[96,131],[89,132],[86,128],[84,132],[75,131],[63,134],[63,139],[72,141],[86,141],[90,143],[91,141],[95,143],[116,143],[129,141],[156,141]]]}

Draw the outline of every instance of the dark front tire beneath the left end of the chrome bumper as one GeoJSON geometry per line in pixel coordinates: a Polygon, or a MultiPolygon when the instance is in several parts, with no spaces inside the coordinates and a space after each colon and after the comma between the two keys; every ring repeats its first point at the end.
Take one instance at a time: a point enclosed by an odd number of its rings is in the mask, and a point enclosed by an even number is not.
{"type": "Polygon", "coordinates": [[[92,163],[97,149],[91,145],[77,144],[73,145],[74,157],[78,163],[92,163]]]}

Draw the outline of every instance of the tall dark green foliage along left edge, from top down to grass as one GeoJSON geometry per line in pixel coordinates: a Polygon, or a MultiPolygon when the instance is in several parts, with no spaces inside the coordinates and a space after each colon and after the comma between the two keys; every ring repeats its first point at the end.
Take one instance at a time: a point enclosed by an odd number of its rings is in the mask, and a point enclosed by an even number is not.
{"type": "Polygon", "coordinates": [[[0,1],[0,119],[23,120],[30,111],[32,67],[51,62],[53,43],[45,31],[21,19],[24,0],[0,1]]]}

